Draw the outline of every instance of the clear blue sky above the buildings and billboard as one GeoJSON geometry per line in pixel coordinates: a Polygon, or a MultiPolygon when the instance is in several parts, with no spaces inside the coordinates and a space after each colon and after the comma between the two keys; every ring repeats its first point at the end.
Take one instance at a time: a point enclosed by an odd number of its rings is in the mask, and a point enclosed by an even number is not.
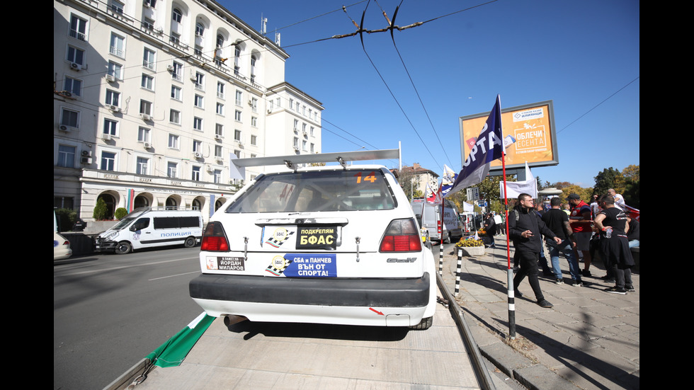
{"type": "MultiPolygon", "coordinates": [[[[639,165],[639,1],[218,0],[280,33],[290,84],[322,102],[322,151],[395,149],[402,163],[460,171],[459,117],[553,101],[559,165],[542,183],[592,187],[639,165]],[[346,6],[346,12],[342,6],[346,6]],[[368,6],[368,7],[367,7],[368,6]],[[364,28],[394,32],[325,39],[364,28]]],[[[397,161],[380,161],[389,168],[397,161]]]]}

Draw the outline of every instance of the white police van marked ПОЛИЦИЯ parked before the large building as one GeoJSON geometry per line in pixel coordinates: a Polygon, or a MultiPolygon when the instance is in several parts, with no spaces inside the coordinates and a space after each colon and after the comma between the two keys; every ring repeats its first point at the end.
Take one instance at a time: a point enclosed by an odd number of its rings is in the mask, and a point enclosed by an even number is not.
{"type": "Polygon", "coordinates": [[[192,248],[203,237],[203,214],[193,210],[140,207],[94,239],[97,252],[119,255],[140,248],[181,245],[192,248]]]}

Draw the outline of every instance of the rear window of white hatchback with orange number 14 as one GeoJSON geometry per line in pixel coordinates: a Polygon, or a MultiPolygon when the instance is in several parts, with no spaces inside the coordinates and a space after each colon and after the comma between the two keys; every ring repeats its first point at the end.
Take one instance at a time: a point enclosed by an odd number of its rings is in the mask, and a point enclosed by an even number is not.
{"type": "Polygon", "coordinates": [[[226,212],[391,210],[395,205],[380,170],[310,171],[261,176],[226,212]]]}

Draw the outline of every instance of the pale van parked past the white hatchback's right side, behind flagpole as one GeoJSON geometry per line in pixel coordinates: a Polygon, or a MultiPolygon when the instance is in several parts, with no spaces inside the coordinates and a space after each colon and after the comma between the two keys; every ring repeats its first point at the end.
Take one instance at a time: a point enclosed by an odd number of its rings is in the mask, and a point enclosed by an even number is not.
{"type": "MultiPolygon", "coordinates": [[[[441,240],[440,205],[427,203],[423,198],[415,198],[410,203],[417,217],[419,226],[429,232],[432,241],[441,240]]],[[[450,200],[443,201],[443,243],[457,241],[462,237],[462,229],[458,218],[457,207],[450,200]]]]}

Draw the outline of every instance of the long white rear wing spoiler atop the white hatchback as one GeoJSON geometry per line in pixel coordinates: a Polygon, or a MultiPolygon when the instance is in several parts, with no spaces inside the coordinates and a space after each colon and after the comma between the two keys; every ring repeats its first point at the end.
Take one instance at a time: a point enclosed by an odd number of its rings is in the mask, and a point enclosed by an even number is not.
{"type": "Polygon", "coordinates": [[[347,161],[365,161],[365,160],[388,160],[397,159],[400,161],[400,149],[381,149],[381,150],[360,150],[360,151],[336,151],[331,153],[315,153],[315,154],[291,154],[288,156],[269,156],[269,157],[251,157],[249,159],[237,159],[234,154],[231,154],[229,168],[236,168],[237,172],[241,173],[241,178],[246,166],[271,166],[285,165],[287,168],[294,171],[299,168],[299,164],[315,164],[315,163],[333,163],[338,162],[343,168],[346,168],[347,161]]]}

